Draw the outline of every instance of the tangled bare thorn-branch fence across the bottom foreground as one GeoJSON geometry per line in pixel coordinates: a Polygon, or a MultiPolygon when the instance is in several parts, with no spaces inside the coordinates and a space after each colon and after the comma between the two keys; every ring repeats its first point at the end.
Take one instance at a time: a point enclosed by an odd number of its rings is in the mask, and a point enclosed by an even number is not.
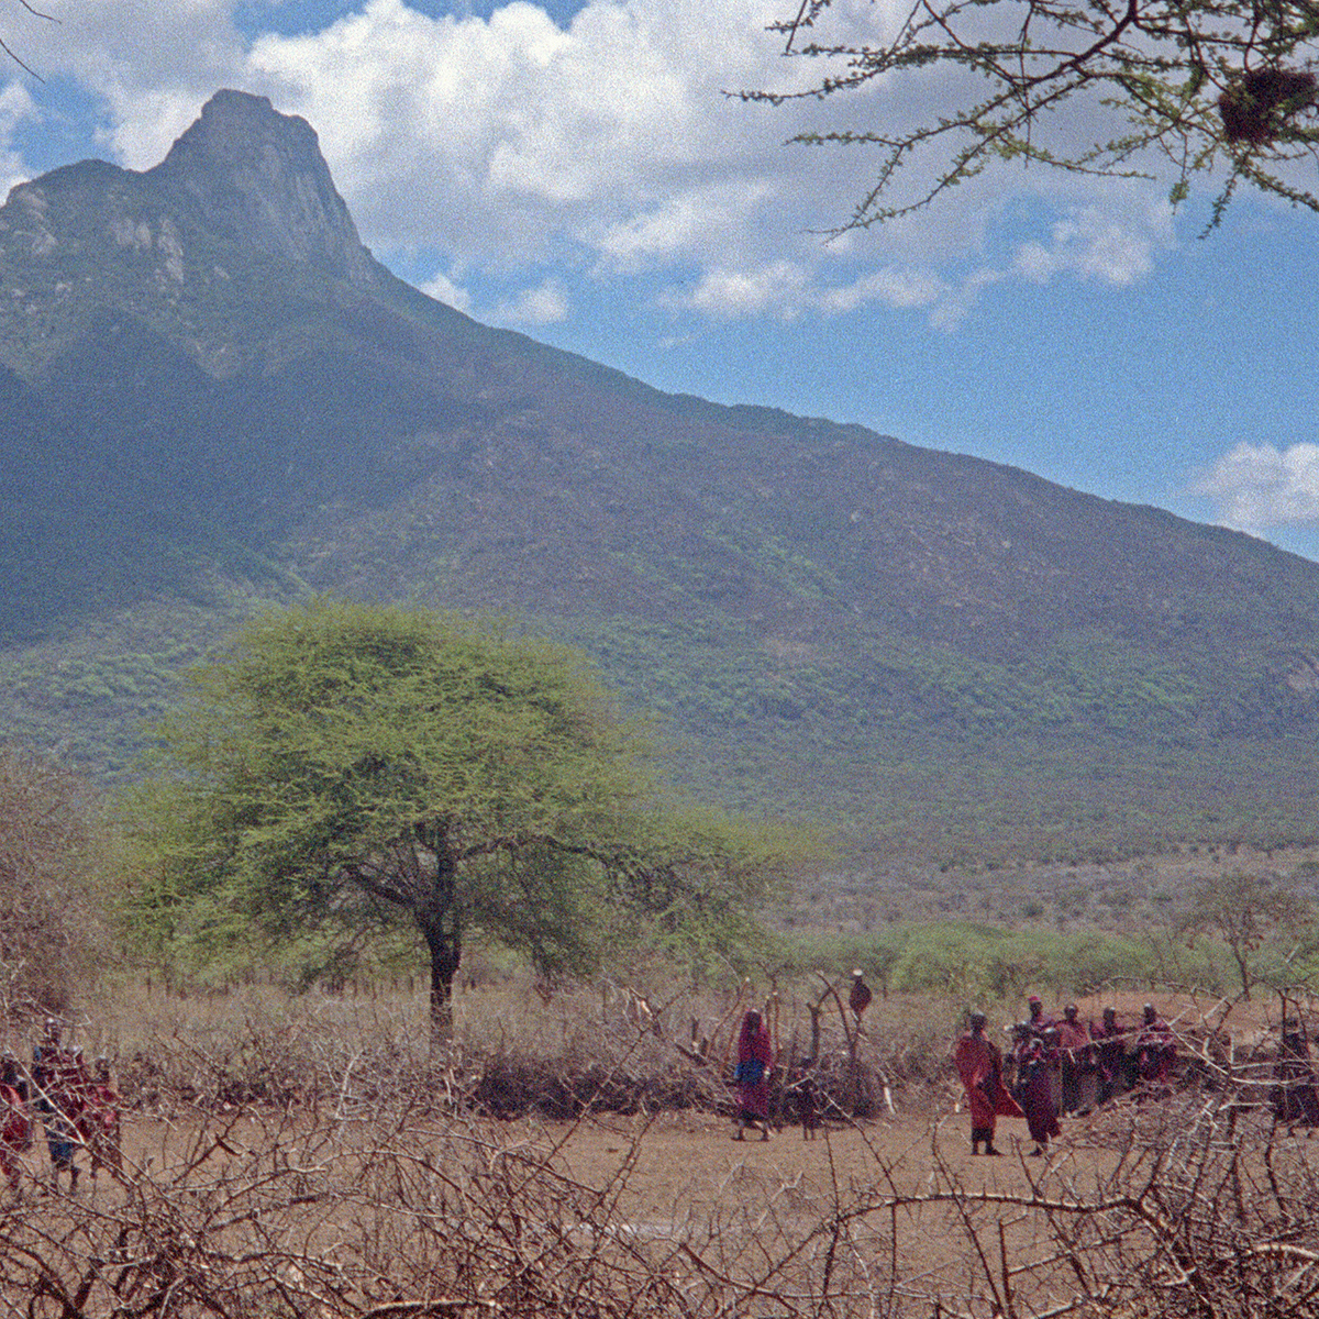
{"type": "Polygon", "coordinates": [[[997,1184],[969,1184],[934,1126],[898,1158],[876,1146],[863,1178],[826,1144],[811,1187],[762,1169],[644,1221],[630,1183],[645,1124],[599,1186],[545,1133],[429,1099],[158,1129],[120,1183],[29,1184],[4,1206],[3,1319],[1319,1311],[1312,1145],[1221,1095],[1113,1111],[997,1184]]]}

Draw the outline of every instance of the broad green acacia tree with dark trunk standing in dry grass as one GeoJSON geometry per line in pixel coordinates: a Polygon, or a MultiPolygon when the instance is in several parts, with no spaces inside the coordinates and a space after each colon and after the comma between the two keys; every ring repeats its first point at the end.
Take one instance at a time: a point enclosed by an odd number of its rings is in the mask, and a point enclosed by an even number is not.
{"type": "Polygon", "coordinates": [[[140,929],[360,939],[402,915],[441,1035],[474,931],[550,973],[640,925],[724,944],[776,860],[769,835],[663,803],[579,652],[429,611],[265,613],[160,739],[133,802],[140,929]]]}

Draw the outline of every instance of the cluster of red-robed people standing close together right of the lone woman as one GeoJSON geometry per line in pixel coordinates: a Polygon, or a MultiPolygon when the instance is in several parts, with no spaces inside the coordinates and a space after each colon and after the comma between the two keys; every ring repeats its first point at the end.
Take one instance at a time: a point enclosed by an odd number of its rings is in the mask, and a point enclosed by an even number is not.
{"type": "Polygon", "coordinates": [[[985,1014],[972,1012],[971,1029],[952,1050],[971,1109],[972,1154],[981,1146],[985,1154],[1001,1153],[993,1144],[1000,1117],[1026,1120],[1035,1146],[1030,1153],[1038,1157],[1062,1134],[1059,1117],[1088,1112],[1128,1089],[1158,1097],[1171,1086],[1177,1039],[1153,1004],[1145,1004],[1138,1024],[1119,1021],[1113,1008],[1099,1022],[1083,1022],[1076,1004],[1053,1017],[1031,995],[1026,1020],[1012,1028],[1006,1059],[985,1028],[985,1014]]]}

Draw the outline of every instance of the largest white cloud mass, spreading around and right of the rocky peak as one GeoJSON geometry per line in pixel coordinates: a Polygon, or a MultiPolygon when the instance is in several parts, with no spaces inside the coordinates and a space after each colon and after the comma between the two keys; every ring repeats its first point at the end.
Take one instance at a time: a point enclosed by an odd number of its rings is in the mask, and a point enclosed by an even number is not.
{"type": "MultiPolygon", "coordinates": [[[[839,120],[926,115],[933,94],[922,86],[917,104],[906,84],[877,86],[777,108],[727,96],[820,73],[780,58],[782,38],[765,32],[782,0],[588,0],[567,26],[526,0],[488,18],[364,0],[321,30],[253,41],[239,34],[235,8],[79,0],[32,53],[104,99],[106,149],[132,168],[158,161],[218,87],[262,92],[317,129],[381,256],[427,253],[514,284],[537,268],[565,278],[695,270],[692,290],[663,301],[702,315],[790,319],[882,303],[952,327],[1001,280],[1130,284],[1171,243],[1166,207],[1140,186],[1055,183],[1034,170],[1013,175],[1013,189],[1047,182],[1062,219],[1004,262],[987,261],[984,248],[1008,193],[984,181],[936,210],[824,244],[813,231],[847,218],[876,158],[785,138],[839,120]]],[[[832,13],[859,37],[898,8],[839,0],[832,13]]],[[[512,295],[499,314],[559,319],[566,288],[512,295]]],[[[471,307],[447,276],[433,290],[471,307]]]]}

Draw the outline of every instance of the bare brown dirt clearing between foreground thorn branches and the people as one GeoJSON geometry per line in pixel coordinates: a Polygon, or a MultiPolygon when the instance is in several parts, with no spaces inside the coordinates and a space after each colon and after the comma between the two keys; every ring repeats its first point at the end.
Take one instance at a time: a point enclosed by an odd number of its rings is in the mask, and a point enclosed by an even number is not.
{"type": "MultiPolygon", "coordinates": [[[[861,1302],[873,1287],[888,1286],[888,1277],[901,1279],[913,1314],[929,1314],[935,1302],[951,1298],[956,1312],[980,1319],[992,1312],[985,1298],[1008,1277],[1009,1262],[1017,1295],[1038,1302],[1034,1312],[1047,1311],[1075,1290],[1068,1257],[1058,1250],[1058,1232],[1066,1229],[1049,1212],[1031,1212],[1031,1196],[1043,1195],[1051,1204],[1111,1199],[1112,1174],[1129,1153],[1133,1122],[1157,1149],[1163,1145],[1161,1124],[1175,1144],[1196,1121],[1203,1128],[1210,1111],[1217,1120],[1221,1103],[1194,1095],[1119,1104],[1064,1120],[1062,1138],[1043,1158],[1029,1155],[1031,1142],[1021,1120],[998,1124],[1004,1157],[972,1155],[969,1119],[954,1112],[951,1103],[931,1116],[900,1111],[864,1124],[834,1122],[810,1141],[799,1128],[785,1128],[768,1141],[735,1141],[728,1121],[696,1112],[579,1122],[435,1116],[398,1126],[381,1120],[340,1125],[326,1113],[297,1111],[243,1111],[212,1115],[204,1122],[195,1115],[174,1120],[129,1115],[124,1153],[131,1167],[146,1167],[166,1183],[182,1170],[185,1181],[178,1184],[187,1188],[174,1192],[171,1212],[198,1223],[208,1223],[208,1187],[219,1186],[227,1173],[231,1199],[240,1195],[244,1178],[251,1186],[284,1186],[290,1175],[332,1183],[332,1195],[306,1196],[307,1208],[299,1207],[301,1199],[290,1202],[285,1219],[276,1219],[278,1211],[272,1208],[270,1219],[262,1219],[264,1231],[282,1223],[281,1231],[305,1237],[309,1256],[339,1252],[353,1241],[365,1258],[367,1245],[388,1227],[397,1244],[372,1268],[392,1283],[401,1278],[404,1294],[410,1294],[409,1285],[425,1282],[425,1269],[434,1266],[426,1249],[438,1249],[421,1231],[442,1204],[431,1194],[438,1183],[427,1179],[441,1171],[446,1186],[456,1186],[463,1182],[458,1169],[468,1166],[475,1177],[464,1184],[480,1198],[460,1198],[462,1208],[443,1217],[435,1240],[450,1249],[470,1239],[483,1264],[495,1258],[492,1250],[529,1249],[532,1242],[541,1250],[550,1242],[563,1268],[578,1266],[603,1249],[601,1241],[613,1241],[619,1261],[636,1264],[642,1256],[634,1252],[649,1252],[646,1258],[666,1261],[663,1268],[677,1269],[694,1294],[702,1287],[711,1295],[720,1287],[749,1287],[756,1304],[737,1310],[748,1316],[781,1315],[782,1295],[805,1297],[814,1294],[813,1287],[830,1286],[835,1298],[847,1301],[839,1312],[867,1312],[861,1302]],[[272,1142],[285,1153],[273,1163],[268,1155],[253,1162],[272,1142]],[[383,1150],[388,1154],[380,1155],[383,1150]],[[553,1174],[537,1171],[546,1169],[553,1174]],[[517,1190],[522,1184],[532,1186],[526,1196],[517,1190]],[[968,1211],[968,1196],[981,1191],[988,1195],[968,1211]],[[890,1198],[904,1200],[904,1207],[885,1207],[890,1198]],[[323,1207],[311,1208],[313,1200],[323,1207]],[[369,1241],[352,1235],[363,1224],[371,1228],[369,1241]]],[[[1265,1136],[1266,1113],[1244,1112],[1236,1136],[1248,1134],[1248,1128],[1265,1136]]],[[[1232,1129],[1220,1136],[1227,1144],[1215,1137],[1213,1148],[1229,1148],[1232,1129]]],[[[1194,1150],[1190,1157],[1194,1163],[1194,1150]]],[[[42,1173],[40,1142],[33,1158],[33,1171],[42,1173]]],[[[1272,1167],[1286,1169],[1289,1183],[1304,1174],[1304,1184],[1319,1187],[1319,1140],[1283,1132],[1272,1167]]],[[[1249,1177],[1249,1162],[1241,1169],[1249,1177]]],[[[1119,1173],[1126,1186],[1132,1177],[1129,1167],[1119,1173]]],[[[1219,1183],[1227,1184],[1221,1177],[1219,1183]]],[[[1261,1190],[1268,1187],[1261,1183],[1261,1190]]],[[[80,1192],[79,1202],[87,1210],[113,1212],[121,1192],[103,1183],[80,1192]]],[[[1116,1233],[1105,1229],[1104,1241],[1088,1248],[1087,1262],[1096,1270],[1109,1268],[1116,1278],[1136,1278],[1129,1261],[1150,1254],[1146,1237],[1140,1223],[1116,1233]],[[1120,1249],[1113,1260],[1100,1258],[1115,1241],[1120,1249]]],[[[1137,1283],[1138,1278],[1122,1286],[1132,1291],[1137,1283]]]]}

